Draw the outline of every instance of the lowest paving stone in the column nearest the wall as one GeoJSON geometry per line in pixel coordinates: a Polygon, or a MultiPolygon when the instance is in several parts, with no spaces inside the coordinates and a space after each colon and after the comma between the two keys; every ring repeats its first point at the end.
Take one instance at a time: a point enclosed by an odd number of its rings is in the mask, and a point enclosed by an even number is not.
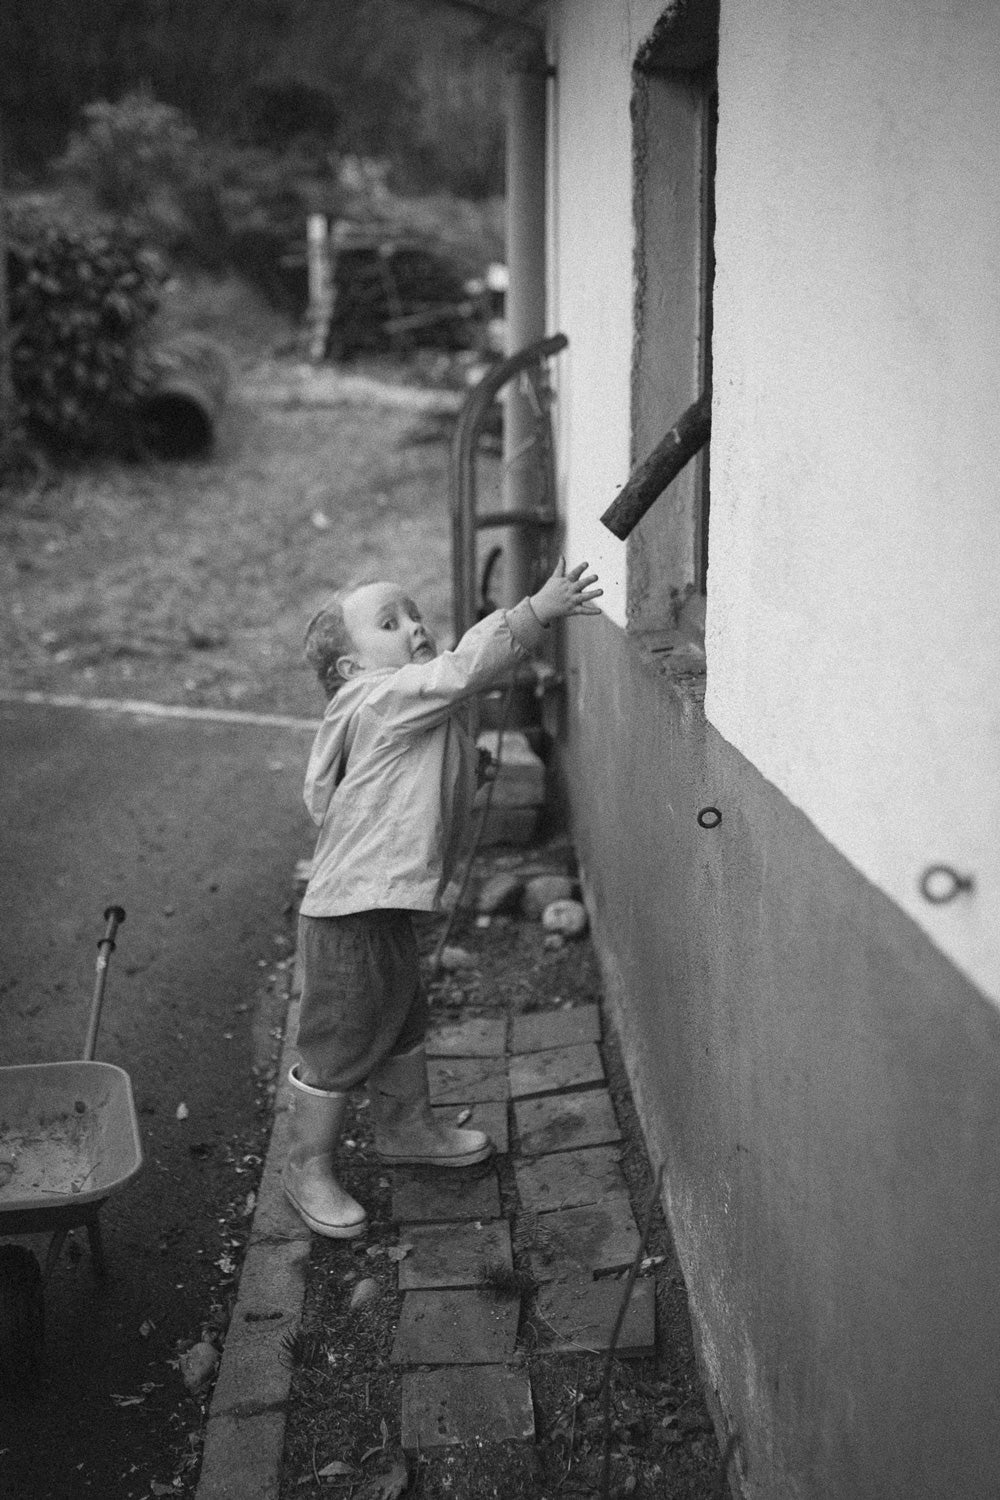
{"type": "MultiPolygon", "coordinates": [[[[625,1281],[553,1282],[538,1293],[537,1312],[544,1347],[559,1354],[600,1353],[612,1341],[625,1281]]],[[[615,1353],[643,1359],[657,1347],[654,1282],[640,1278],[628,1299],[615,1353]]]]}

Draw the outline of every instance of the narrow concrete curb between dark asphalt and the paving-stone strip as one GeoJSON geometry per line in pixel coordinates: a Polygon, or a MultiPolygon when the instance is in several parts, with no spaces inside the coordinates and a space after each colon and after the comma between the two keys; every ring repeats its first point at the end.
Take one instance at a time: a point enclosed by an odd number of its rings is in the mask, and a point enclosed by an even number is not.
{"type": "Polygon", "coordinates": [[[310,1230],[282,1191],[298,1000],[289,1000],[274,1119],[237,1300],[211,1394],[195,1500],[276,1500],[292,1383],[282,1344],[301,1322],[310,1230]]]}

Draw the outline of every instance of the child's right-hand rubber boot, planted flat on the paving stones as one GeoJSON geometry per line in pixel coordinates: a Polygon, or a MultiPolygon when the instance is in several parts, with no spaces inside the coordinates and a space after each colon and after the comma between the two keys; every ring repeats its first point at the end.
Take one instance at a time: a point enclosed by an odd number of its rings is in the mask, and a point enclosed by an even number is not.
{"type": "Polygon", "coordinates": [[[375,1150],[382,1161],[397,1167],[471,1167],[492,1154],[493,1142],[484,1131],[442,1125],[433,1114],[423,1047],[387,1058],[367,1086],[375,1150]]]}

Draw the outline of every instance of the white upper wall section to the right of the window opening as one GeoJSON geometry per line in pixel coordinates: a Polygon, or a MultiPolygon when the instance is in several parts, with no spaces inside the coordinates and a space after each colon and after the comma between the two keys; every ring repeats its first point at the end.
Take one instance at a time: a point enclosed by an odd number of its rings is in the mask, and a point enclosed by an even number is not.
{"type": "Polygon", "coordinates": [[[994,0],[723,0],[706,711],[997,999],[999,120],[994,0]]]}

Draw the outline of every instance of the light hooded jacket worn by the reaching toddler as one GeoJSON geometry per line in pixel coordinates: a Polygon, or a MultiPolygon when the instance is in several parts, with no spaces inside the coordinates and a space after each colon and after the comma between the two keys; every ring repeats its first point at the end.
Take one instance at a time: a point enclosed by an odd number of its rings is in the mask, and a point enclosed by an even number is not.
{"type": "Polygon", "coordinates": [[[358,672],[334,694],[306,770],[319,837],[304,916],[439,909],[475,795],[472,698],[541,639],[525,598],[432,662],[358,672]]]}

